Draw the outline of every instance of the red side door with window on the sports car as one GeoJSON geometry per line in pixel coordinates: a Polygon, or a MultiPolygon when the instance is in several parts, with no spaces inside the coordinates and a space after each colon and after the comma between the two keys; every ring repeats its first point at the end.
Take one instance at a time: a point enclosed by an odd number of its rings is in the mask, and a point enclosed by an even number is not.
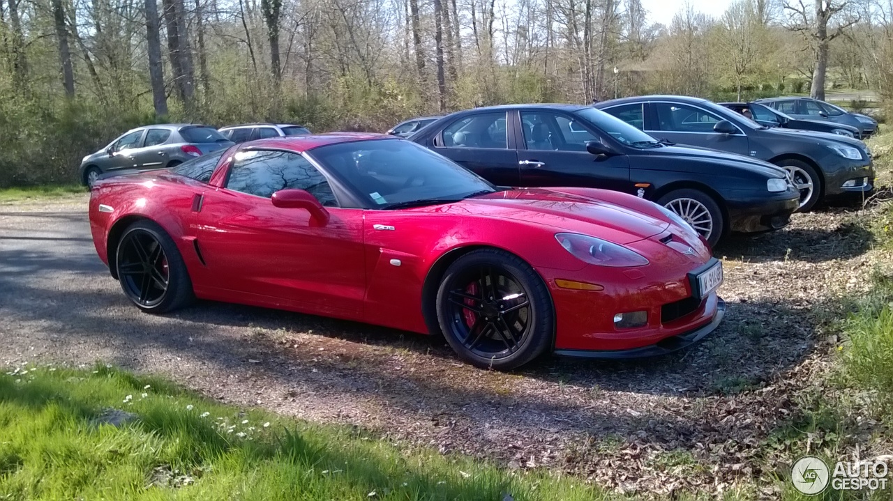
{"type": "Polygon", "coordinates": [[[359,318],[363,312],[363,210],[342,209],[329,181],[302,155],[238,152],[223,186],[204,194],[197,240],[217,287],[265,305],[359,318]],[[280,209],[272,193],[304,189],[330,212],[280,209]]]}

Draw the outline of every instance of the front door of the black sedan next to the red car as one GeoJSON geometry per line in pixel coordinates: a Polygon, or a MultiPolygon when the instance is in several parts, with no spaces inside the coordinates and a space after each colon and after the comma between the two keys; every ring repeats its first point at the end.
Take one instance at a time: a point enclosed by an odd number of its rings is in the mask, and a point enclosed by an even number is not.
{"type": "Polygon", "coordinates": [[[604,143],[605,138],[572,115],[521,111],[520,128],[523,144],[518,147],[518,164],[522,186],[583,186],[635,193],[630,182],[629,158],[587,152],[589,141],[604,143]]]}

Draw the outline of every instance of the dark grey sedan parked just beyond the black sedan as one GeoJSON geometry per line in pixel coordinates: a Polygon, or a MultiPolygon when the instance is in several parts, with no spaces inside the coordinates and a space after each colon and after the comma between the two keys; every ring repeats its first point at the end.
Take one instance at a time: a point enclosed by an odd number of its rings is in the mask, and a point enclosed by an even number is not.
{"type": "Polygon", "coordinates": [[[697,97],[647,95],[596,107],[672,143],[739,153],[785,168],[800,192],[801,211],[826,198],[873,189],[871,152],[852,137],[764,127],[697,97]]]}

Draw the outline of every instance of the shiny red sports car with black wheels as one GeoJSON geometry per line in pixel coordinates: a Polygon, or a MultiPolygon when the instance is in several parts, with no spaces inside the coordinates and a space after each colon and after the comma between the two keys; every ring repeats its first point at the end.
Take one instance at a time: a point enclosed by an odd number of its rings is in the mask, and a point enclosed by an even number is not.
{"type": "Polygon", "coordinates": [[[100,180],[90,226],[144,311],[197,297],[443,333],[481,367],[658,355],[724,311],[721,263],[669,210],[491,185],[393,136],[268,139],[100,180]]]}

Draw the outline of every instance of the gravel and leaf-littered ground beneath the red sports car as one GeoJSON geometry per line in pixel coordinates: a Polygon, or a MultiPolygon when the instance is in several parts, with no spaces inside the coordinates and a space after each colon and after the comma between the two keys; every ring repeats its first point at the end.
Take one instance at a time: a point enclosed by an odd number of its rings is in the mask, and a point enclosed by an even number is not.
{"type": "Polygon", "coordinates": [[[798,215],[717,250],[729,311],[697,349],[641,362],[552,357],[498,374],[460,364],[442,342],[363,324],[207,302],[140,314],[96,258],[85,211],[84,197],[0,205],[0,365],[103,360],[222,400],[617,489],[761,475],[758,440],[797,412],[790,389],[827,351],[822,311],[872,270],[864,213],[798,215]]]}

